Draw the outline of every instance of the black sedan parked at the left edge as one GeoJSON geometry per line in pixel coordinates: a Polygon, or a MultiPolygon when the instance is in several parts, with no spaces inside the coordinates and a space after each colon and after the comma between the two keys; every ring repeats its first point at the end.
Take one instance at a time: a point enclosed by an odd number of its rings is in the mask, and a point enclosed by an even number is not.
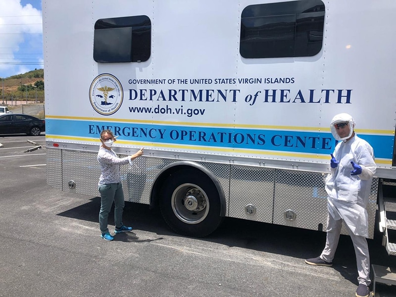
{"type": "Polygon", "coordinates": [[[46,121],[37,117],[18,113],[0,115],[0,134],[26,133],[38,136],[45,131],[46,121]]]}

